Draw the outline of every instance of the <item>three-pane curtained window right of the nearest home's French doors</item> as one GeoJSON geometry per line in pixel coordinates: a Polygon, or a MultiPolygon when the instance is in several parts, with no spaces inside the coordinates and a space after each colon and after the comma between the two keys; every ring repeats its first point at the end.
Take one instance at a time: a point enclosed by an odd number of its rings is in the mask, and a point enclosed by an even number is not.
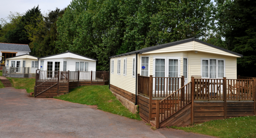
{"type": "Polygon", "coordinates": [[[223,78],[225,59],[202,59],[202,78],[223,78]]]}

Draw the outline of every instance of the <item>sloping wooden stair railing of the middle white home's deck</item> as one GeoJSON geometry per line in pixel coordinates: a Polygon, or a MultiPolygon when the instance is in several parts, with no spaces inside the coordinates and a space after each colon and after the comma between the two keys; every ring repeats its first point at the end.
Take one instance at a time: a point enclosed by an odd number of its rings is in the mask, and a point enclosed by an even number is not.
{"type": "MultiPolygon", "coordinates": [[[[36,75],[36,80],[38,79],[39,75],[36,75]]],[[[57,71],[56,75],[45,80],[41,84],[37,85],[34,87],[34,97],[36,97],[38,94],[44,92],[45,90],[51,88],[52,86],[58,84],[59,82],[59,71],[57,71]]]]}

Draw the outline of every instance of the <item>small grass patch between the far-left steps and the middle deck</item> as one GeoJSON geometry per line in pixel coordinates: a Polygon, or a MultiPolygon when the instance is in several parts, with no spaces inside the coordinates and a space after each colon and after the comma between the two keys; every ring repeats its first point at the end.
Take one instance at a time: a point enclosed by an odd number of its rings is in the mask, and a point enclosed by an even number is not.
{"type": "Polygon", "coordinates": [[[15,89],[26,89],[27,93],[34,92],[34,86],[36,83],[36,79],[31,78],[9,78],[11,84],[15,89]]]}

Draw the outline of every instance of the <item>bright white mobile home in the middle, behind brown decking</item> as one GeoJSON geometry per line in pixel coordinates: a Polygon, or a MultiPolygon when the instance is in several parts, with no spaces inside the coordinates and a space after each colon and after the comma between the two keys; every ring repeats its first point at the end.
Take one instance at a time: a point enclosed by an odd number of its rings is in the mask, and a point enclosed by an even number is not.
{"type": "Polygon", "coordinates": [[[96,59],[70,51],[38,59],[40,71],[96,71],[96,59]]]}

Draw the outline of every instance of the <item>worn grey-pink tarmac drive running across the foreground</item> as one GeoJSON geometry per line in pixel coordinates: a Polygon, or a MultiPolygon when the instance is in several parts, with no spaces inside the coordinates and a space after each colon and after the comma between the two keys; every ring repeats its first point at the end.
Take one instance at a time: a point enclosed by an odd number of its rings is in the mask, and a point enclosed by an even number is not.
{"type": "Polygon", "coordinates": [[[25,89],[0,89],[0,137],[207,137],[174,129],[153,131],[143,121],[53,98],[33,98],[25,89]]]}

